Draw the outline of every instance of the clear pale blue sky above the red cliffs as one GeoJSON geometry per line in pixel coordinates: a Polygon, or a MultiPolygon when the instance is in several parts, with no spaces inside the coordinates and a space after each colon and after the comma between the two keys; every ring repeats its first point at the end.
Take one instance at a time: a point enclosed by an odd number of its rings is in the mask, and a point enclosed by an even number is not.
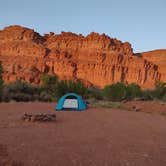
{"type": "Polygon", "coordinates": [[[0,29],[105,33],[134,52],[166,49],[166,0],[0,0],[0,29]]]}

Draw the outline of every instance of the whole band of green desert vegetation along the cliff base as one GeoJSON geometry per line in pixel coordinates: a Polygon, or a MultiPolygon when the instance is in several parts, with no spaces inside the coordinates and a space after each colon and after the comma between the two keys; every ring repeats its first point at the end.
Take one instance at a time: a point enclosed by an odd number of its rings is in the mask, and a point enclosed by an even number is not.
{"type": "MultiPolygon", "coordinates": [[[[0,100],[4,102],[14,101],[44,101],[58,100],[65,93],[77,93],[87,102],[103,106],[112,105],[111,102],[131,100],[162,100],[166,101],[166,83],[156,82],[154,90],[142,90],[136,83],[129,85],[117,82],[105,86],[103,89],[85,87],[80,80],[59,80],[57,76],[41,75],[41,84],[33,85],[25,81],[16,80],[12,83],[4,83],[2,79],[2,65],[0,63],[0,100]]],[[[94,105],[94,104],[93,104],[94,105]]],[[[117,104],[115,104],[117,106],[117,104]]],[[[117,106],[118,107],[118,106],[117,106]]],[[[119,106],[120,107],[120,106],[119,106]]]]}

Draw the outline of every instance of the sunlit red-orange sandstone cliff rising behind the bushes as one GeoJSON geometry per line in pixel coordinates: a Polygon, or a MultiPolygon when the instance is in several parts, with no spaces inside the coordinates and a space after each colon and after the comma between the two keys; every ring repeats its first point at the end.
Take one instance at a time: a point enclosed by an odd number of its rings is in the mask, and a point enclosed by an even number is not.
{"type": "Polygon", "coordinates": [[[134,54],[131,44],[105,34],[71,32],[40,35],[13,25],[0,30],[0,61],[5,82],[40,84],[42,73],[104,87],[123,81],[153,88],[166,82],[166,49],[134,54]]]}

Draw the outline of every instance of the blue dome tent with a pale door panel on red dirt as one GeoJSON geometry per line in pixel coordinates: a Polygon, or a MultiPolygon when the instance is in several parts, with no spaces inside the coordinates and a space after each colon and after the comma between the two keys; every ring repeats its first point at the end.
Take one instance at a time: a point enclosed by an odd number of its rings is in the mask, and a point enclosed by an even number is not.
{"type": "Polygon", "coordinates": [[[81,111],[87,109],[86,104],[82,100],[80,96],[78,96],[75,93],[67,93],[64,96],[62,96],[57,105],[56,110],[75,110],[75,111],[81,111]]]}

